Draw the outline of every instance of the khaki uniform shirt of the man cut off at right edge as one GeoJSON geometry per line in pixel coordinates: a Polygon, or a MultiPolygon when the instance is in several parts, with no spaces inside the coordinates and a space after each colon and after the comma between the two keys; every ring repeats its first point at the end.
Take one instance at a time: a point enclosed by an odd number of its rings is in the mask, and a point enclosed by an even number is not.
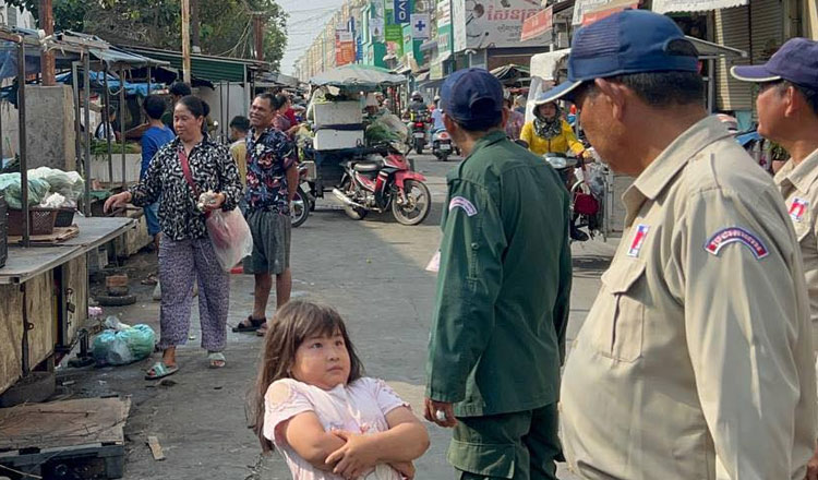
{"type": "Polygon", "coordinates": [[[818,348],[818,151],[798,166],[787,161],[775,175],[775,184],[784,195],[801,245],[809,291],[813,347],[818,348]]]}

